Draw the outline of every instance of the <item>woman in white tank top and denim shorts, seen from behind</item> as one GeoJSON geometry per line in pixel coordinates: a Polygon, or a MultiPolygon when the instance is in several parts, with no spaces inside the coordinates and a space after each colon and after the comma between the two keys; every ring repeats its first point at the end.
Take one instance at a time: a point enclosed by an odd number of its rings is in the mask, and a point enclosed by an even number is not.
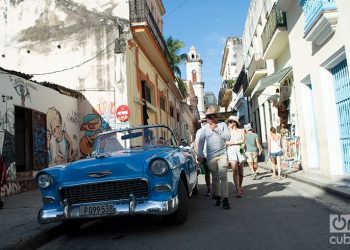
{"type": "Polygon", "coordinates": [[[270,138],[268,139],[267,149],[269,152],[269,157],[271,159],[272,165],[272,178],[281,179],[281,157],[283,156],[282,146],[281,146],[281,135],[276,132],[274,127],[270,128],[270,138]],[[277,173],[276,176],[276,165],[277,173]]]}

